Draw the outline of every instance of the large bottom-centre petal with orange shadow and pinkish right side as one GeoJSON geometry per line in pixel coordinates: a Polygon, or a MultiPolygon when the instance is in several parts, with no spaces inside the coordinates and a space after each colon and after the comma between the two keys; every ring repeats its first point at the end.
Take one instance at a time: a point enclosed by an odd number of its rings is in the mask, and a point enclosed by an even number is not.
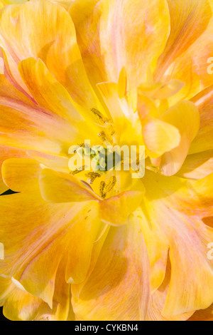
{"type": "Polygon", "coordinates": [[[72,285],[72,306],[82,320],[142,320],[149,301],[148,257],[138,224],[111,228],[92,274],[72,285]]]}

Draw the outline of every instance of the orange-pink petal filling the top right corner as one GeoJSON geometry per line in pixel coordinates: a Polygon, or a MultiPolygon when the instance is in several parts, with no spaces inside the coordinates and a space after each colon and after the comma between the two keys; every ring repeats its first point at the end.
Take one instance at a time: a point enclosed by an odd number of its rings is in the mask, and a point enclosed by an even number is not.
{"type": "Polygon", "coordinates": [[[175,101],[192,98],[212,85],[207,73],[212,57],[212,0],[168,0],[171,32],[155,72],[155,80],[180,79],[186,83],[175,101]]]}

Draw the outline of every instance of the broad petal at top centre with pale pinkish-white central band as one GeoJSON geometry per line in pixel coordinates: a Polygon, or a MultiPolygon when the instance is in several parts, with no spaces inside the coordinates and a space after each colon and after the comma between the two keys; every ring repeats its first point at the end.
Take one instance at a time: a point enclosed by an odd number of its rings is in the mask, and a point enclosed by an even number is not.
{"type": "Polygon", "coordinates": [[[128,91],[136,90],[165,47],[170,32],[168,4],[136,0],[132,6],[129,0],[102,0],[94,6],[96,2],[77,1],[70,7],[87,73],[94,73],[94,83],[117,83],[125,66],[128,91]],[[77,14],[79,3],[83,19],[77,14]]]}

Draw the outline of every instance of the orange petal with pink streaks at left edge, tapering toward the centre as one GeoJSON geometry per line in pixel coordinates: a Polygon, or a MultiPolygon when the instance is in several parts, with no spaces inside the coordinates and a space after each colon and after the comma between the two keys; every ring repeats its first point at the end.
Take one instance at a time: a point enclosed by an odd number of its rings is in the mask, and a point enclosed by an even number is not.
{"type": "Polygon", "coordinates": [[[0,75],[1,144],[20,149],[59,153],[70,126],[51,111],[35,105],[4,75],[0,75]]]}

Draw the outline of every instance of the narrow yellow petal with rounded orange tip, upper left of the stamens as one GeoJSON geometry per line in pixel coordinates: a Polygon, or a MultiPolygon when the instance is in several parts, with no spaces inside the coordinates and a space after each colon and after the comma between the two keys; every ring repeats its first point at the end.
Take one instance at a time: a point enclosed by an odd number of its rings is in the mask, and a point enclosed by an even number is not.
{"type": "Polygon", "coordinates": [[[64,123],[61,133],[67,143],[79,143],[84,138],[85,134],[82,129],[85,127],[87,127],[89,138],[92,138],[94,133],[97,135],[97,127],[91,122],[92,112],[90,110],[90,113],[88,110],[85,112],[82,105],[72,100],[70,94],[55,80],[43,61],[40,59],[36,61],[34,58],[25,59],[18,63],[18,70],[36,103],[44,108],[44,113],[53,113],[58,126],[59,123],[64,123]],[[96,132],[93,133],[91,128],[94,128],[96,132]]]}

